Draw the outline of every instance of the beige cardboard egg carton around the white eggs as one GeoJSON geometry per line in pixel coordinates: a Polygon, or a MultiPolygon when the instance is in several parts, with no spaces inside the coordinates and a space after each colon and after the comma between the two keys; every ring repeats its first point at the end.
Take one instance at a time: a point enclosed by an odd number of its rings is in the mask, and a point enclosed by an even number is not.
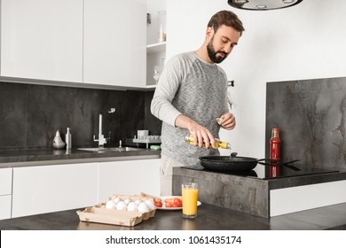
{"type": "MultiPolygon", "coordinates": [[[[131,201],[135,201],[137,199],[145,201],[148,199],[139,196],[127,195],[114,195],[112,196],[112,199],[114,198],[120,198],[122,200],[128,198],[131,201]]],[[[84,210],[78,210],[77,214],[79,215],[79,219],[81,221],[133,227],[142,221],[152,218],[155,215],[155,212],[156,209],[145,213],[139,213],[138,211],[106,209],[106,203],[100,203],[98,205],[87,207],[84,210]]]]}

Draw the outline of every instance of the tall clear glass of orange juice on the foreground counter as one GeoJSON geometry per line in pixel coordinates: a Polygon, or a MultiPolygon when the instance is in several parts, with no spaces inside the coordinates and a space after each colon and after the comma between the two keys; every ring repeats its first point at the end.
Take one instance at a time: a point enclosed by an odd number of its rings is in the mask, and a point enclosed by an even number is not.
{"type": "Polygon", "coordinates": [[[182,184],[183,196],[183,217],[196,218],[197,217],[197,198],[198,198],[198,184],[194,182],[185,182],[182,184]]]}

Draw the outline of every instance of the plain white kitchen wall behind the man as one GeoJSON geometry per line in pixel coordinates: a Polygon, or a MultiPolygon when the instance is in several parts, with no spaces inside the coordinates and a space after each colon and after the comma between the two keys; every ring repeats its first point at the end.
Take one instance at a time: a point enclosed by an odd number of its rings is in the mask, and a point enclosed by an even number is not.
{"type": "Polygon", "coordinates": [[[346,1],[304,0],[287,9],[253,12],[234,9],[226,0],[168,0],[167,58],[197,50],[208,20],[224,9],[236,12],[246,31],[220,64],[229,80],[235,81],[229,90],[237,119],[237,127],[223,130],[221,138],[242,156],[263,158],[269,143],[266,82],[346,75],[346,1]]]}

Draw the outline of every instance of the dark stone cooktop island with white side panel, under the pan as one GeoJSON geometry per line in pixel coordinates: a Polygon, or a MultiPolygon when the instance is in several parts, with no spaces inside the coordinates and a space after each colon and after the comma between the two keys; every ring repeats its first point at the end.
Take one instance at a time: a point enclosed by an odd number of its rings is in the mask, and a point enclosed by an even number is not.
{"type": "Polygon", "coordinates": [[[172,192],[180,194],[183,182],[196,182],[201,202],[266,218],[346,203],[346,170],[295,166],[299,171],[283,174],[281,168],[282,176],[275,177],[215,172],[201,165],[174,167],[172,192]]]}

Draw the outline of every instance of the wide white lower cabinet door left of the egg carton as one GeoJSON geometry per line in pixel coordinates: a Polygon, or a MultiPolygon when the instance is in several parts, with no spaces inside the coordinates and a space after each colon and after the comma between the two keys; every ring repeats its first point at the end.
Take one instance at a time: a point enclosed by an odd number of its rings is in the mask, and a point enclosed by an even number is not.
{"type": "Polygon", "coordinates": [[[98,203],[98,163],[14,167],[12,218],[98,203]]]}

